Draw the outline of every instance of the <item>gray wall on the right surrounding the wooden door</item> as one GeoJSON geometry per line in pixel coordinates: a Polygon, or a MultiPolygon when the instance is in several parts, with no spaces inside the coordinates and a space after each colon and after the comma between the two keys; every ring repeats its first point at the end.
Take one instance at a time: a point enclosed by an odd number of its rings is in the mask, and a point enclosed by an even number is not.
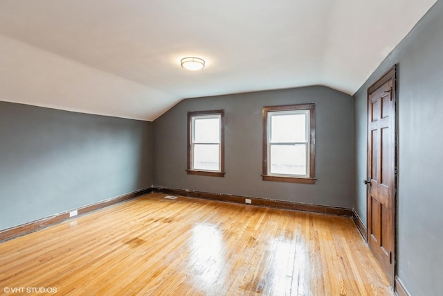
{"type": "Polygon", "coordinates": [[[354,95],[354,205],[366,220],[366,91],[399,63],[397,275],[411,295],[443,291],[443,1],[419,21],[354,95]]]}

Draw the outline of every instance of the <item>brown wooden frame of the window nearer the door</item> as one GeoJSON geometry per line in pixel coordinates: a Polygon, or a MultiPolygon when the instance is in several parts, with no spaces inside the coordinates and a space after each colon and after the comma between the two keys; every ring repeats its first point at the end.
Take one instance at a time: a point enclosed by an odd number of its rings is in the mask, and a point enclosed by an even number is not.
{"type": "Polygon", "coordinates": [[[266,106],[262,109],[262,125],[263,125],[263,139],[262,139],[262,180],[274,181],[274,182],[290,182],[290,183],[302,183],[302,184],[315,184],[315,134],[316,134],[316,103],[295,104],[295,105],[279,105],[279,106],[266,106]],[[271,174],[268,168],[269,162],[269,124],[268,116],[270,112],[291,112],[291,111],[308,111],[309,112],[309,173],[307,177],[299,175],[279,175],[271,174]]]}

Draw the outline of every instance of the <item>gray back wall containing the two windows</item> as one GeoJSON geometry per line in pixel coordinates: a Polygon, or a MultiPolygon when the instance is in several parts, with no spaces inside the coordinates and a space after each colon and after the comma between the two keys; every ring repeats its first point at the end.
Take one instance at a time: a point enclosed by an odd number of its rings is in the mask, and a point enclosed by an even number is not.
{"type": "Polygon", "coordinates": [[[154,121],[154,185],[352,208],[353,100],[327,87],[190,98],[154,121]],[[316,184],[262,181],[262,107],[316,105],[316,184]],[[187,175],[188,111],[225,110],[225,177],[187,175]]]}

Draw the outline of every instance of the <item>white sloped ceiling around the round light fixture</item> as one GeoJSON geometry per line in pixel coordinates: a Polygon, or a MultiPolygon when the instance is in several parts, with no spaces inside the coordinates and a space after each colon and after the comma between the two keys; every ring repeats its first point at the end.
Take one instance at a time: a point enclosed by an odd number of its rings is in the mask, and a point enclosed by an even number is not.
{"type": "Polygon", "coordinates": [[[0,0],[0,101],[152,121],[197,96],[354,94],[435,1],[0,0]]]}

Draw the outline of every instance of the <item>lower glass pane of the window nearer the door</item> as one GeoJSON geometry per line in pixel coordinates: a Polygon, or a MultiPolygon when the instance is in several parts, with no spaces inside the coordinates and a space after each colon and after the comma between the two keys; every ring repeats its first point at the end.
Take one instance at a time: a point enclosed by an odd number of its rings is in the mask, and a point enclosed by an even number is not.
{"type": "Polygon", "coordinates": [[[306,175],[306,148],[307,144],[271,144],[269,159],[271,174],[306,175]]]}

